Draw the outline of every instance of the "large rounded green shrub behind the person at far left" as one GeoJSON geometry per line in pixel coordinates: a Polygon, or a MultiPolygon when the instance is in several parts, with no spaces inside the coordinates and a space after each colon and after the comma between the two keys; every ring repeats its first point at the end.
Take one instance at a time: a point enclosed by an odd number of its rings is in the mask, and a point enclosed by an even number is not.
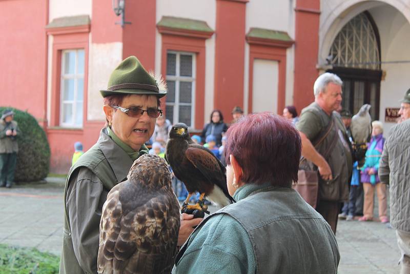
{"type": "MultiPolygon", "coordinates": [[[[7,107],[0,107],[3,113],[7,107]]],[[[14,120],[21,131],[18,143],[16,182],[33,182],[47,177],[50,168],[50,146],[46,133],[27,111],[14,109],[14,120]]]]}

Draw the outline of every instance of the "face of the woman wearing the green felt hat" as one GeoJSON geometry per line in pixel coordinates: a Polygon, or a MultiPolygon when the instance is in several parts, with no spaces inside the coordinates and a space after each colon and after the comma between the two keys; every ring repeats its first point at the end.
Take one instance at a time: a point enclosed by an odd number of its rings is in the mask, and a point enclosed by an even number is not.
{"type": "MultiPolygon", "coordinates": [[[[155,95],[132,94],[124,97],[120,107],[137,107],[147,110],[149,108],[157,109],[158,105],[155,95]]],[[[115,135],[135,151],[139,150],[142,144],[147,142],[154,133],[156,118],[151,118],[147,112],[144,112],[139,118],[133,118],[119,109],[111,109],[111,129],[115,135]]]]}

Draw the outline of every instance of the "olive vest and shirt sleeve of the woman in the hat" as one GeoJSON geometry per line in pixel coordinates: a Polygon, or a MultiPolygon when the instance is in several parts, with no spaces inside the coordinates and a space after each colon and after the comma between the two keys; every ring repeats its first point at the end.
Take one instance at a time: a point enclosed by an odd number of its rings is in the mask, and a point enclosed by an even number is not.
{"type": "MultiPolygon", "coordinates": [[[[141,147],[140,155],[147,153],[141,147]]],[[[134,161],[101,130],[98,142],[71,167],[64,192],[60,273],[96,273],[99,222],[107,194],[125,181],[134,161]]]]}

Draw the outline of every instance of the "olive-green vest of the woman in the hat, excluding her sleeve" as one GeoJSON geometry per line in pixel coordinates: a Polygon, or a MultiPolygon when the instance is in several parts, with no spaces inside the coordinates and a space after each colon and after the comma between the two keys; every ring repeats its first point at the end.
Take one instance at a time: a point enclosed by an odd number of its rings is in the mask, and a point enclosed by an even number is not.
{"type": "Polygon", "coordinates": [[[85,273],[75,257],[67,210],[67,191],[72,175],[77,173],[80,167],[86,167],[100,179],[104,188],[110,191],[115,185],[127,179],[132,164],[133,161],[129,155],[115,144],[108,136],[107,129],[104,128],[101,130],[98,142],[81,155],[70,168],[64,189],[63,250],[61,251],[59,273],[85,273]]]}

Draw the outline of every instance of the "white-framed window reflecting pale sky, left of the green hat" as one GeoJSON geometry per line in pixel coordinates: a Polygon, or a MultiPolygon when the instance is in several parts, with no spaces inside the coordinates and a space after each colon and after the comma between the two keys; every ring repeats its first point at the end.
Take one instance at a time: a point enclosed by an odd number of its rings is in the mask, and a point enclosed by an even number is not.
{"type": "Polygon", "coordinates": [[[84,49],[61,53],[60,126],[83,127],[84,49]]]}

